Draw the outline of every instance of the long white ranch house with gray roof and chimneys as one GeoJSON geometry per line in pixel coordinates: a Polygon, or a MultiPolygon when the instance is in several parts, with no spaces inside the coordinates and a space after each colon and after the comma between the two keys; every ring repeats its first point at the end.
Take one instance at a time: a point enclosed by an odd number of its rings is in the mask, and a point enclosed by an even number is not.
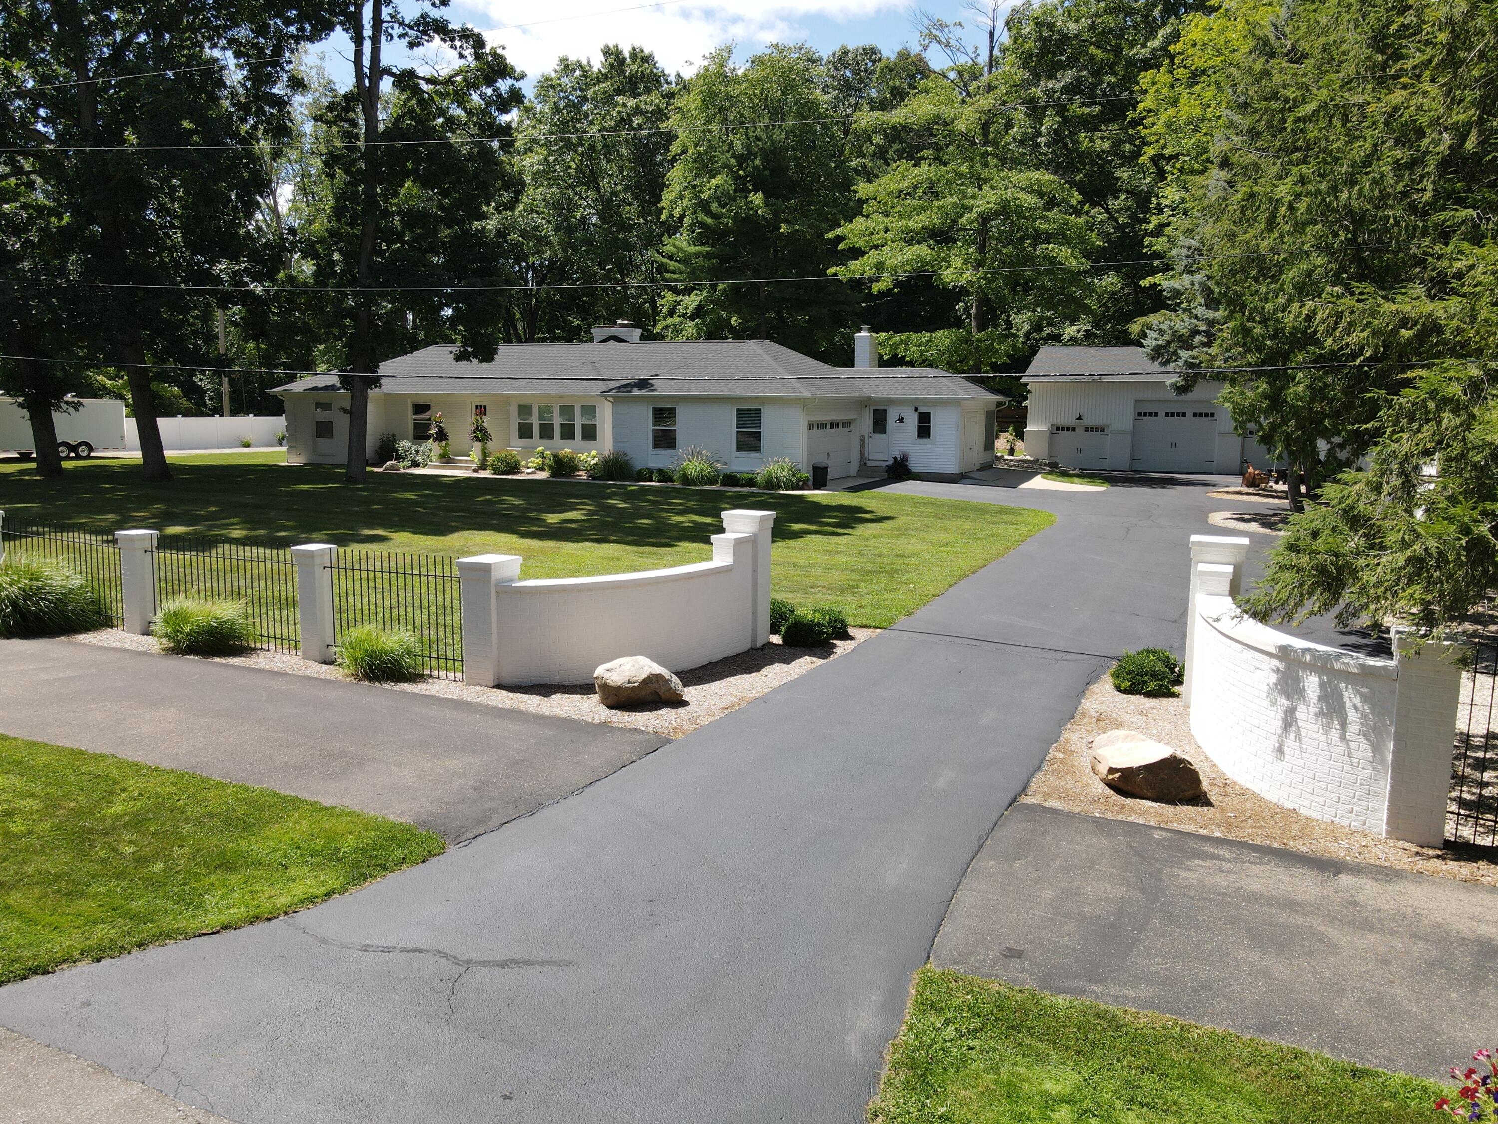
{"type": "MultiPolygon", "coordinates": [[[[731,472],[771,457],[828,477],[882,475],[899,453],[911,469],[956,478],[990,465],[998,397],[959,375],[878,367],[876,340],[855,339],[855,367],[831,367],[767,340],[641,342],[632,325],[595,328],[592,343],[500,345],[491,363],[433,346],[389,360],[370,391],[367,456],[380,433],[424,441],[442,412],[452,451],[485,415],[493,448],[622,450],[668,468],[679,450],[712,450],[731,472]]],[[[276,390],[286,403],[289,463],[343,463],[348,393],[334,375],[276,390]]]]}

